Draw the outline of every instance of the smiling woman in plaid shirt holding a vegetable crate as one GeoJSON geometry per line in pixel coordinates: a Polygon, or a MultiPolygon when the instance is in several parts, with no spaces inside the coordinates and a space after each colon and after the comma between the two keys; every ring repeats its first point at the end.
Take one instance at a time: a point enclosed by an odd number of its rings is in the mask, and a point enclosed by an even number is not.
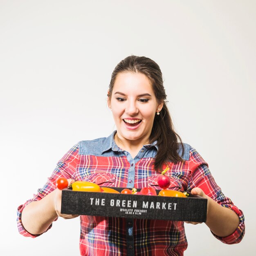
{"type": "MultiPolygon", "coordinates": [[[[61,191],[55,186],[58,177],[64,176],[70,183],[85,180],[101,186],[160,189],[157,177],[168,165],[169,189],[207,198],[206,225],[213,235],[223,243],[239,243],[245,232],[242,211],[223,195],[196,150],[181,143],[165,99],[157,63],[138,56],[121,61],[108,91],[117,131],[107,138],[80,141],[64,155],[43,189],[18,208],[20,233],[35,237],[47,231],[58,216],[77,217],[61,214],[61,191]]],[[[187,248],[181,221],[80,219],[81,255],[180,256],[187,248]]]]}

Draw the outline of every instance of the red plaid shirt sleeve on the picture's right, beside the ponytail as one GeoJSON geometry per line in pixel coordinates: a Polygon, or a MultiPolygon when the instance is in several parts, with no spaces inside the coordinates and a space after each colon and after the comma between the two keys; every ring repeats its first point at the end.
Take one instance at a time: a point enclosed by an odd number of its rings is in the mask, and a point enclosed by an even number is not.
{"type": "Polygon", "coordinates": [[[218,202],[218,204],[220,204],[221,206],[231,209],[239,217],[240,224],[233,234],[227,237],[219,237],[214,234],[213,235],[217,239],[222,241],[222,243],[239,243],[245,234],[245,218],[243,212],[233,204],[230,198],[225,197],[220,187],[216,184],[213,176],[211,175],[211,172],[208,168],[208,164],[192,147],[190,148],[189,171],[191,175],[188,184],[188,190],[191,190],[194,187],[199,187],[204,191],[206,195],[208,195],[214,201],[218,202]]]}

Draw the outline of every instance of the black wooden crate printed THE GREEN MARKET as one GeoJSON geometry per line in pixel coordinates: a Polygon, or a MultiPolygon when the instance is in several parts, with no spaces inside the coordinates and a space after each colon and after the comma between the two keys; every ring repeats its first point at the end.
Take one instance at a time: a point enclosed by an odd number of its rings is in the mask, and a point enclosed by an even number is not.
{"type": "MultiPolygon", "coordinates": [[[[120,188],[113,189],[120,191],[120,188]]],[[[207,199],[191,194],[176,198],[63,189],[61,213],[206,222],[207,199]]]]}

